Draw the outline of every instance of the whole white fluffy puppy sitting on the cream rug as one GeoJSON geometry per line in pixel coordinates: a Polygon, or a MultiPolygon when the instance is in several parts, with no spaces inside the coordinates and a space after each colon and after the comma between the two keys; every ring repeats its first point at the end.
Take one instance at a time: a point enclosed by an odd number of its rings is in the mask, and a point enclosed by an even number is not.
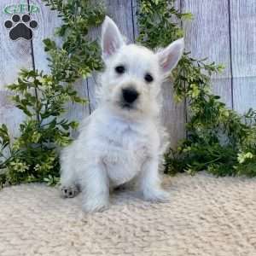
{"type": "Polygon", "coordinates": [[[183,54],[183,39],[156,53],[125,44],[106,17],[102,58],[106,68],[98,108],[85,119],[79,137],[61,153],[61,190],[73,197],[81,189],[86,212],[108,207],[109,189],[131,180],[143,198],[165,201],[159,166],[168,141],[160,124],[160,84],[183,54]]]}

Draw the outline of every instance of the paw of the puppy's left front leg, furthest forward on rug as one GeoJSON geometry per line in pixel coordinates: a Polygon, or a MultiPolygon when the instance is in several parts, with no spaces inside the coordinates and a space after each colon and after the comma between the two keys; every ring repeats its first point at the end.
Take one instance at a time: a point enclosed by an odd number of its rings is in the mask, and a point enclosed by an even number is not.
{"type": "Polygon", "coordinates": [[[84,212],[103,212],[109,207],[108,200],[105,198],[90,198],[84,201],[84,212]]]}

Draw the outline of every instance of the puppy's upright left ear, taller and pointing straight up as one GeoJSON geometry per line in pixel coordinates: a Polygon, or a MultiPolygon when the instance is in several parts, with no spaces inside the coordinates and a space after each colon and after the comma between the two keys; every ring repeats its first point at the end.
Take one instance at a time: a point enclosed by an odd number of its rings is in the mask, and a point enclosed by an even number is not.
{"type": "Polygon", "coordinates": [[[125,44],[119,28],[113,20],[106,16],[102,25],[102,58],[107,61],[117,50],[125,44]]]}

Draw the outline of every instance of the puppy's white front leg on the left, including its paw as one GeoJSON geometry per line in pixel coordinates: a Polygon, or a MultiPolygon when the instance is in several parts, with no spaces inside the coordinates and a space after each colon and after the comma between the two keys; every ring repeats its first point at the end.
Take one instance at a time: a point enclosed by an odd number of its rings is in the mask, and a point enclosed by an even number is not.
{"type": "Polygon", "coordinates": [[[85,212],[102,212],[108,208],[109,182],[103,163],[86,165],[82,177],[83,209],[85,212]]]}

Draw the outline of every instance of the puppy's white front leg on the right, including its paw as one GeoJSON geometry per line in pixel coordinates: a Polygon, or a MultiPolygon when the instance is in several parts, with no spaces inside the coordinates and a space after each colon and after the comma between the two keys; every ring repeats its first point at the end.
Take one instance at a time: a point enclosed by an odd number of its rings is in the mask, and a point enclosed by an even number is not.
{"type": "Polygon", "coordinates": [[[138,185],[147,201],[168,201],[168,193],[160,187],[158,159],[148,158],[138,177],[138,185]]]}

